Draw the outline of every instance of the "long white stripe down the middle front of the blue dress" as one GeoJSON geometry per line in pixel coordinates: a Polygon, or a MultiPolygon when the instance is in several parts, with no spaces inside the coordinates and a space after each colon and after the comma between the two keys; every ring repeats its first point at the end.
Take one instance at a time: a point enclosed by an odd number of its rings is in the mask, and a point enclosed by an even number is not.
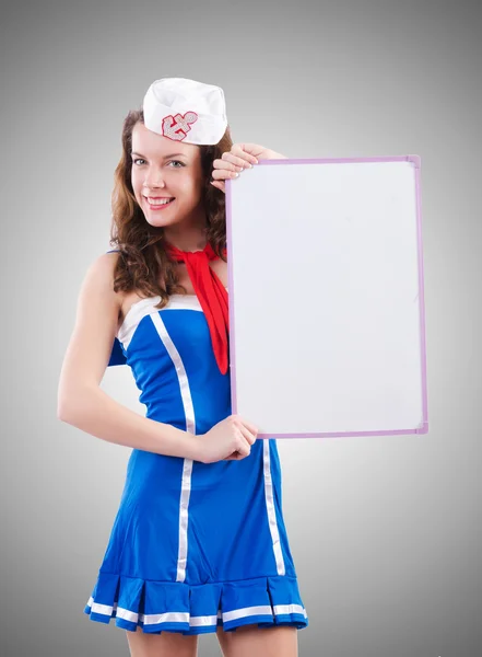
{"type": "MultiPolygon", "coordinates": [[[[176,368],[177,378],[179,380],[180,396],[183,399],[183,406],[186,414],[186,431],[188,434],[196,434],[196,419],[195,419],[195,407],[192,404],[192,395],[189,388],[189,381],[187,378],[186,369],[179,351],[176,348],[173,339],[171,338],[167,328],[160,312],[150,315],[151,320],[158,333],[161,341],[163,342],[168,355],[171,356],[174,366],[176,368]]],[[[179,549],[177,554],[177,576],[176,581],[184,581],[186,579],[186,567],[187,567],[187,554],[188,554],[188,523],[189,523],[189,497],[191,492],[191,474],[192,474],[192,459],[184,459],[183,463],[183,482],[180,488],[180,502],[179,502],[179,549]]]]}

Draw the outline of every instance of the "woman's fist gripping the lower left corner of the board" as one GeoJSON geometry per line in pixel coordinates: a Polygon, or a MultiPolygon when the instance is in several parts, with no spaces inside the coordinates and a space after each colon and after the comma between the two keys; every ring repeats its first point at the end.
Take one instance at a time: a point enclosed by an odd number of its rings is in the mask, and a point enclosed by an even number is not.
{"type": "Polygon", "coordinates": [[[258,429],[254,424],[239,415],[230,415],[214,425],[200,439],[200,458],[202,463],[231,460],[239,461],[249,457],[258,429]]]}

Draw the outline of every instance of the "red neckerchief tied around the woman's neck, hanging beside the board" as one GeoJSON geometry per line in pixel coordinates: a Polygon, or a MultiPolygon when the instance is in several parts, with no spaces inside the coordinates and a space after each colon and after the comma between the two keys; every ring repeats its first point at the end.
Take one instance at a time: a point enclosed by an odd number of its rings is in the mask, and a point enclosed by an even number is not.
{"type": "Polygon", "coordinates": [[[199,299],[211,333],[211,343],[218,367],[222,374],[227,372],[230,314],[227,291],[218,274],[209,266],[209,262],[218,260],[211,244],[202,251],[180,251],[164,240],[166,253],[178,263],[186,263],[192,287],[199,299]]]}

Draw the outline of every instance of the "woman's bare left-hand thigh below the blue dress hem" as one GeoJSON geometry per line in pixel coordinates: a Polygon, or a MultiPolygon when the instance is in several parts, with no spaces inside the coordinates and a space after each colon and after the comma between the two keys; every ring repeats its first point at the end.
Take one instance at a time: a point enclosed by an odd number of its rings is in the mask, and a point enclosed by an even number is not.
{"type": "Polygon", "coordinates": [[[131,657],[197,657],[197,634],[186,636],[177,632],[148,634],[138,627],[136,632],[126,631],[131,657]]]}

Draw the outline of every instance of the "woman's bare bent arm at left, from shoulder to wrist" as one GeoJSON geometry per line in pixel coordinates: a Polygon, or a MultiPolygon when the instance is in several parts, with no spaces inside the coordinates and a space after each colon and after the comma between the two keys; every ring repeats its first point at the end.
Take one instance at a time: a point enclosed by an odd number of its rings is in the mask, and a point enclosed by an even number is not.
{"type": "Polygon", "coordinates": [[[119,297],[113,290],[118,254],[105,253],[89,268],[77,321],[63,359],[59,389],[60,420],[116,445],[198,460],[200,441],[169,424],[143,417],[99,387],[117,332],[119,297]]]}

